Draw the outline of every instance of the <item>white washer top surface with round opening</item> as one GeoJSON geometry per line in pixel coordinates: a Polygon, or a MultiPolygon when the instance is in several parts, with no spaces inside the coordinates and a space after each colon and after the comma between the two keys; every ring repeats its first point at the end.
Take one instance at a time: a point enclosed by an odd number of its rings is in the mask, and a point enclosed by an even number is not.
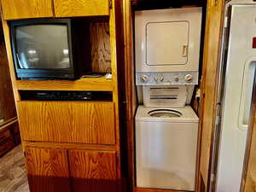
{"type": "Polygon", "coordinates": [[[177,123],[198,123],[199,119],[190,106],[184,108],[137,108],[136,121],[164,121],[177,123]]]}

